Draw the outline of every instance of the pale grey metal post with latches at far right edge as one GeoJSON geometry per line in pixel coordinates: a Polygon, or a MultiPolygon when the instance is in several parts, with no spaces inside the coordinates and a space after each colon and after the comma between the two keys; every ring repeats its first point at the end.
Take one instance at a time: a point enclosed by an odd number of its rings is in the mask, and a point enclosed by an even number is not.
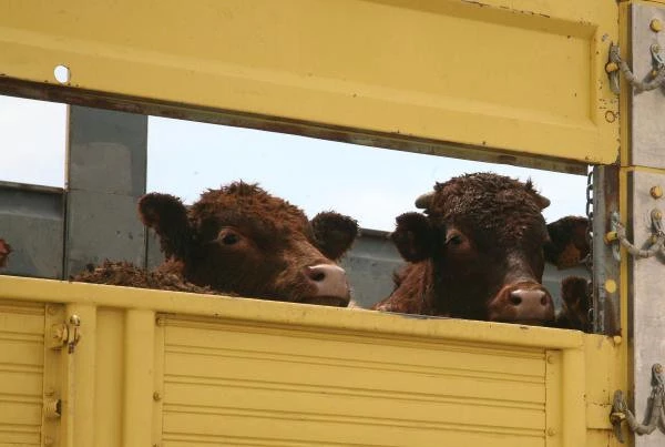
{"type": "MultiPolygon", "coordinates": [[[[665,54],[665,32],[654,27],[654,20],[665,23],[665,7],[652,3],[632,3],[630,9],[630,55],[638,80],[648,78],[654,70],[652,49],[659,44],[665,54]]],[[[623,81],[623,79],[622,79],[623,81]]],[[[624,90],[626,91],[626,90],[624,90]]],[[[630,151],[627,152],[627,224],[628,237],[638,248],[651,243],[654,209],[665,212],[665,199],[654,193],[654,186],[665,189],[665,89],[635,92],[628,99],[630,151]]],[[[627,253],[625,256],[630,256],[627,253]]],[[[631,256],[628,278],[628,336],[632,344],[633,405],[640,421],[647,416],[652,392],[652,366],[665,363],[665,255],[631,256]]],[[[648,436],[635,436],[636,447],[665,444],[665,435],[655,430],[648,436]]]]}

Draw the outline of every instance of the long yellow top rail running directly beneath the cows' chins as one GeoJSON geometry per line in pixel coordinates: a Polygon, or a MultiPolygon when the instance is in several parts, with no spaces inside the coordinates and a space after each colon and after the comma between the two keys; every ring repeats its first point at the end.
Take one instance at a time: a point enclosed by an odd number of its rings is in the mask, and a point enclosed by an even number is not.
{"type": "Polygon", "coordinates": [[[83,303],[98,306],[202,315],[219,319],[306,326],[328,331],[371,333],[380,336],[415,336],[479,344],[539,348],[579,348],[584,334],[577,331],[454,318],[423,318],[375,311],[332,308],[249,298],[206,296],[98,284],[69,283],[0,276],[0,298],[83,303]]]}

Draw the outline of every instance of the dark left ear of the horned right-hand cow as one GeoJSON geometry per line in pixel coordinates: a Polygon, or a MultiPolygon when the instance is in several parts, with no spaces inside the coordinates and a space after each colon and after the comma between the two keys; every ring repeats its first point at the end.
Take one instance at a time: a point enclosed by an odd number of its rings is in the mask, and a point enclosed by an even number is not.
{"type": "Polygon", "coordinates": [[[396,219],[397,227],[390,238],[408,262],[424,261],[433,254],[434,231],[420,213],[405,213],[396,219]]]}

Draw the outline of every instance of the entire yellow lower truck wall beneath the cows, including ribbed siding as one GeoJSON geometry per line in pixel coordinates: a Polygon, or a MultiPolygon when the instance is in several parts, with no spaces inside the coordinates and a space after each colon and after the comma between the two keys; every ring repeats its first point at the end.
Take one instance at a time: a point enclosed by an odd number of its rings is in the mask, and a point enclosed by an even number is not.
{"type": "MultiPolygon", "coordinates": [[[[7,276],[0,298],[0,346],[33,331],[43,349],[32,302],[82,315],[58,445],[616,445],[603,413],[625,369],[608,337],[7,276]],[[93,421],[75,410],[91,399],[93,421]]],[[[32,389],[39,443],[41,374],[27,376],[0,387],[32,389]]]]}

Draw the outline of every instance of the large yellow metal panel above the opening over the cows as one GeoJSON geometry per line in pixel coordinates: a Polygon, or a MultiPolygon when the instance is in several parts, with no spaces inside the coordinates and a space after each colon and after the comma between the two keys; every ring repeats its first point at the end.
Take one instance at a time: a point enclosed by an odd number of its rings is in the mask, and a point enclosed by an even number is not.
{"type": "Polygon", "coordinates": [[[0,0],[7,78],[585,163],[617,156],[616,39],[595,0],[0,0]]]}

